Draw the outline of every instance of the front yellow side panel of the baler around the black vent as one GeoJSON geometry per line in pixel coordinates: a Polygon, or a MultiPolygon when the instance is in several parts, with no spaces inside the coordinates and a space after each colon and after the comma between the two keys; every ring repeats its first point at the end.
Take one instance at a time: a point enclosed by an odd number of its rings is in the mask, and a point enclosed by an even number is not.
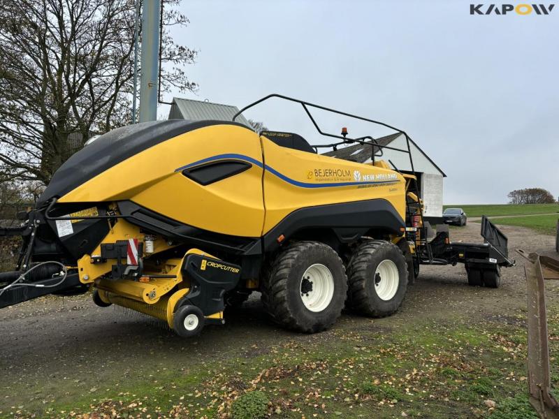
{"type": "Polygon", "coordinates": [[[122,161],[63,196],[59,202],[132,200],[197,228],[245,237],[261,235],[262,151],[259,136],[240,126],[198,128],[122,161]],[[247,156],[259,164],[202,186],[180,168],[224,154],[247,156]]]}

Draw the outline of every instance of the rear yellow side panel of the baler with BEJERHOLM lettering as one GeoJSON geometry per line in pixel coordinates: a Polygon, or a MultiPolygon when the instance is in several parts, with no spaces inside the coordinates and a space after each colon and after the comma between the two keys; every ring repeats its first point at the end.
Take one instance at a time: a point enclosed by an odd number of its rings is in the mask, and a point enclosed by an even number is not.
{"type": "Polygon", "coordinates": [[[280,147],[261,137],[266,220],[263,233],[303,207],[383,198],[405,219],[405,179],[386,168],[280,147]]]}

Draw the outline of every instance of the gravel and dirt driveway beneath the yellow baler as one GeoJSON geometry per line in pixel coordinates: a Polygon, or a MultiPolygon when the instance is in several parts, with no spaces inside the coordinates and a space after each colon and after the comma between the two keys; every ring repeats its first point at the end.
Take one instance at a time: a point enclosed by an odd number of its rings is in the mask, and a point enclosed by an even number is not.
{"type": "MultiPolygon", "coordinates": [[[[553,237],[527,228],[502,227],[509,248],[557,256],[553,237]]],[[[451,230],[453,240],[474,242],[479,224],[451,230]]],[[[511,256],[514,252],[511,250],[511,256]]],[[[516,258],[519,259],[518,257],[516,258]]],[[[507,316],[525,307],[523,261],[502,270],[499,289],[467,286],[463,266],[421,267],[419,282],[410,287],[402,309],[375,327],[397,333],[409,322],[425,323],[450,316],[485,319],[507,316]]],[[[0,413],[25,404],[44,409],[49,403],[71,403],[77,395],[102,397],[108,385],[151,383],[169,370],[203,374],[205,363],[258,355],[287,341],[335,339],[336,330],[370,328],[371,320],[344,314],[331,331],[299,335],[277,328],[252,297],[246,307],[228,316],[224,326],[209,327],[201,337],[184,340],[140,315],[126,316],[96,307],[87,295],[45,297],[0,311],[0,413]],[[258,347],[259,349],[254,349],[258,347]],[[110,383],[110,384],[109,384],[110,383]]]]}

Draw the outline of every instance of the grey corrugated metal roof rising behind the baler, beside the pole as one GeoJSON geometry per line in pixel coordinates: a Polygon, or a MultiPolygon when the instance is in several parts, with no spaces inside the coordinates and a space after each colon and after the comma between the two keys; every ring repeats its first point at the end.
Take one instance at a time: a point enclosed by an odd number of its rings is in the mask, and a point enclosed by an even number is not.
{"type": "MultiPolygon", "coordinates": [[[[239,112],[239,109],[233,105],[173,98],[168,119],[189,119],[191,121],[217,119],[217,121],[231,121],[237,112],[239,112]]],[[[242,115],[239,115],[235,121],[250,128],[249,122],[242,115]]]]}

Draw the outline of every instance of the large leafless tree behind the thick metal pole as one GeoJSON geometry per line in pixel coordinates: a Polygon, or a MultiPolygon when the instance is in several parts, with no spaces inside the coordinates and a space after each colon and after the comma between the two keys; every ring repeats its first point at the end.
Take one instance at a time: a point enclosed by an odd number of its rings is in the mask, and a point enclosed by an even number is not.
{"type": "MultiPolygon", "coordinates": [[[[179,3],[164,0],[165,28],[188,23],[179,3]]],[[[0,0],[0,182],[48,183],[90,135],[131,122],[134,17],[133,0],[0,0]]],[[[162,41],[162,88],[196,90],[196,51],[162,41]]]]}

